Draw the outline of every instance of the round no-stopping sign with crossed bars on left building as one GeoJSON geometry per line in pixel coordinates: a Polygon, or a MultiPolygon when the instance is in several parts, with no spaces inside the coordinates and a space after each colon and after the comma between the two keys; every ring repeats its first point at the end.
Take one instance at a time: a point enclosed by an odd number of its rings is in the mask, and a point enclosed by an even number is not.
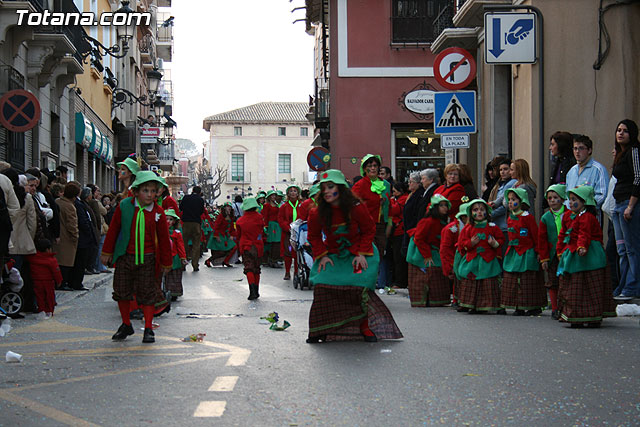
{"type": "Polygon", "coordinates": [[[40,120],[40,103],[34,94],[15,89],[0,98],[0,123],[12,132],[26,132],[40,120]]]}

